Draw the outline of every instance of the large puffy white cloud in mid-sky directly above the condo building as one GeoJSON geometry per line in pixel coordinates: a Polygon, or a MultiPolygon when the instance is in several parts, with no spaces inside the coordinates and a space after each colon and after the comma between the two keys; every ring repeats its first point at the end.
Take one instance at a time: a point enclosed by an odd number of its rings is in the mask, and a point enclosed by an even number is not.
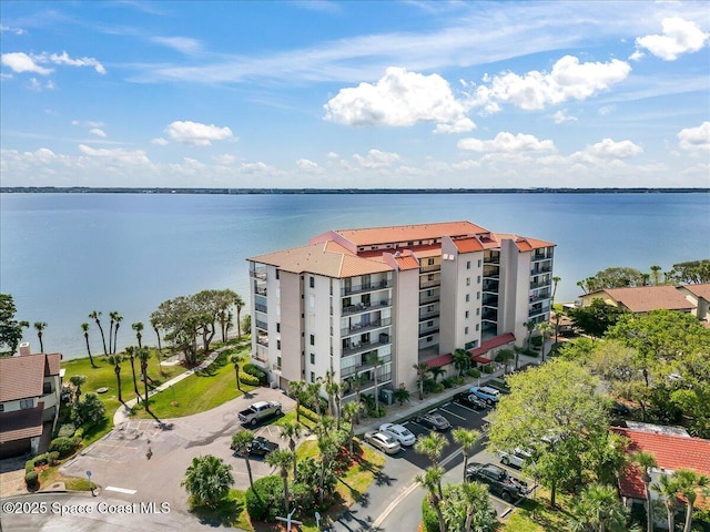
{"type": "Polygon", "coordinates": [[[388,68],[374,85],[361,83],[341,89],[324,108],[325,120],[346,125],[409,126],[435,122],[468,130],[474,126],[470,120],[466,122],[466,109],[444,78],[396,66],[388,68]]]}

